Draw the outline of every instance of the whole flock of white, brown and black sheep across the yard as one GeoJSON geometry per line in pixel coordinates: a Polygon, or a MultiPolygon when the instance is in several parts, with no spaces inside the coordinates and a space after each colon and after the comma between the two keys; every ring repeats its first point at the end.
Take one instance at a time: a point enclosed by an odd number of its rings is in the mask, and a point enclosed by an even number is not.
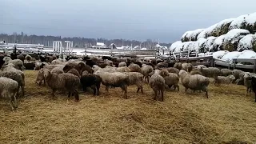
{"type": "MultiPolygon", "coordinates": [[[[101,84],[106,86],[106,92],[110,87],[120,87],[123,97],[128,98],[127,87],[137,86],[137,93],[143,92],[143,84],[146,82],[154,91],[154,100],[160,96],[164,101],[166,89],[179,90],[181,82],[188,89],[203,91],[208,98],[207,87],[209,78],[214,78],[214,84],[236,83],[244,85],[247,93],[255,90],[256,74],[242,70],[218,69],[216,67],[192,66],[191,63],[176,62],[170,64],[162,60],[143,60],[136,58],[110,58],[110,57],[72,57],[58,58],[53,56],[50,62],[42,62],[27,54],[24,60],[4,57],[4,64],[0,72],[0,93],[2,98],[10,99],[12,110],[16,110],[18,91],[25,91],[25,63],[34,63],[34,70],[38,70],[35,83],[38,86],[49,87],[55,98],[57,90],[68,92],[68,97],[74,96],[75,102],[79,102],[79,90],[86,91],[87,87],[94,90],[94,95],[99,94],[101,84]]],[[[255,95],[256,102],[256,95],[255,95]]]]}

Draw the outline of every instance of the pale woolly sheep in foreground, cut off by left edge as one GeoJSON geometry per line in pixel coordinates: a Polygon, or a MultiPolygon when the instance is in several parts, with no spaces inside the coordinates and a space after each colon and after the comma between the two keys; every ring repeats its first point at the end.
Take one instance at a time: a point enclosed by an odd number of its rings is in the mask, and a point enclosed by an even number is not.
{"type": "Polygon", "coordinates": [[[10,99],[10,106],[12,110],[16,110],[18,107],[18,104],[16,101],[17,91],[18,91],[18,82],[6,77],[0,78],[1,97],[10,99]]]}

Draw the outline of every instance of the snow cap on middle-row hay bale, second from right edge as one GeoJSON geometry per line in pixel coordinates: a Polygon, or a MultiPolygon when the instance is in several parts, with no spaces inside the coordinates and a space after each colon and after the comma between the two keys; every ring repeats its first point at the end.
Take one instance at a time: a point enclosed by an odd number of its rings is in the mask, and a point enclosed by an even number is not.
{"type": "Polygon", "coordinates": [[[249,30],[244,30],[244,29],[230,30],[228,33],[226,33],[224,42],[234,44],[235,42],[238,42],[241,38],[243,38],[247,34],[250,34],[249,30]]]}

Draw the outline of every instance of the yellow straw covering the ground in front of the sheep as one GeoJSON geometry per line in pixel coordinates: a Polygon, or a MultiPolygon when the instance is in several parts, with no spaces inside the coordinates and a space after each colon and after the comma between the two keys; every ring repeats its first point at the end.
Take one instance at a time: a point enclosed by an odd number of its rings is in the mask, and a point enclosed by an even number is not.
{"type": "Polygon", "coordinates": [[[256,103],[243,86],[213,86],[204,94],[167,91],[165,102],[121,89],[105,95],[80,94],[81,102],[66,95],[50,98],[50,90],[36,86],[36,71],[26,71],[27,98],[12,112],[0,102],[1,143],[222,143],[256,142],[256,103]]]}

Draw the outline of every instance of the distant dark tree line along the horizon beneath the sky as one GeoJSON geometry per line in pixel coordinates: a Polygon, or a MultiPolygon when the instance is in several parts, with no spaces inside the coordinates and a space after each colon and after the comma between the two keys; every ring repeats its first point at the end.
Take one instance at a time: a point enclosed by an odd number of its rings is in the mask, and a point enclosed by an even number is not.
{"type": "MultiPolygon", "coordinates": [[[[153,48],[158,42],[154,42],[151,39],[147,39],[145,42],[126,39],[105,39],[105,38],[81,38],[81,37],[67,37],[61,36],[45,36],[45,35],[27,35],[27,34],[0,34],[0,41],[6,43],[30,43],[30,44],[42,44],[44,46],[53,46],[53,41],[71,41],[74,42],[75,47],[89,47],[96,45],[96,42],[104,42],[106,46],[110,46],[114,43],[116,46],[142,46],[146,48],[153,48]]],[[[171,43],[160,43],[161,46],[170,47],[171,43]]]]}

